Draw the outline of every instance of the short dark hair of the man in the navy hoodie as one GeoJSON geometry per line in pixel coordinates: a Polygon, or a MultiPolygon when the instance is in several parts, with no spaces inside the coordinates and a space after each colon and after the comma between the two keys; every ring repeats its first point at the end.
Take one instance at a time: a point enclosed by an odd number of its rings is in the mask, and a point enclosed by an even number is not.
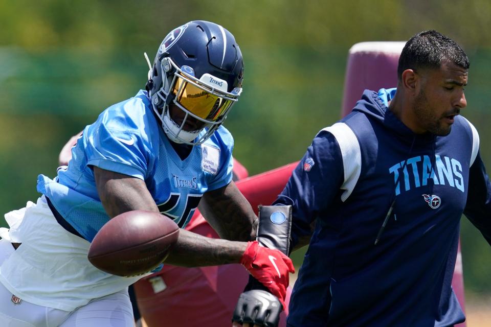
{"type": "Polygon", "coordinates": [[[444,60],[464,69],[470,65],[465,52],[451,38],[435,30],[419,32],[406,42],[400,54],[397,78],[400,80],[406,69],[440,68],[444,60]]]}

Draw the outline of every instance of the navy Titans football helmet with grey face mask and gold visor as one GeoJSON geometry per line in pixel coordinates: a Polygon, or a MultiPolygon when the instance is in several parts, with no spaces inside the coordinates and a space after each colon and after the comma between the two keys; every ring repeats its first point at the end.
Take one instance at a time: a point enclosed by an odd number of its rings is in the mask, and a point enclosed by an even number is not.
{"type": "Polygon", "coordinates": [[[234,36],[220,25],[194,20],[172,30],[159,47],[146,85],[171,141],[205,142],[237,102],[243,69],[234,36]]]}

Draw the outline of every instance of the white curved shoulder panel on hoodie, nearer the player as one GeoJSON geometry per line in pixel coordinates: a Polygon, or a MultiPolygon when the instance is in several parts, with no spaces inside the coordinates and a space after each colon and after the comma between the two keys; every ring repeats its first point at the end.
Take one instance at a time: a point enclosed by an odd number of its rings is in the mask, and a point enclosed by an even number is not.
{"type": "Polygon", "coordinates": [[[341,150],[344,169],[344,182],[341,185],[341,190],[345,190],[341,195],[341,201],[344,202],[351,195],[358,178],[360,178],[362,170],[360,143],[351,128],[345,123],[336,123],[322,130],[336,137],[341,150]]]}

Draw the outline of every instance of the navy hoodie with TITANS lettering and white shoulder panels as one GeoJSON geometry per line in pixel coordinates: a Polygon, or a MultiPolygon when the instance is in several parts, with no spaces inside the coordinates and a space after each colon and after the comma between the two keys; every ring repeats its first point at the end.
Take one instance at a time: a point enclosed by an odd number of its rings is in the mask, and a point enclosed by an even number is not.
{"type": "Polygon", "coordinates": [[[456,116],[447,136],[415,134],[366,90],[321,130],[275,204],[293,205],[292,239],[314,234],[287,325],[451,326],[464,213],[491,244],[491,187],[479,136],[456,116]],[[394,201],[380,241],[377,233],[394,201]]]}

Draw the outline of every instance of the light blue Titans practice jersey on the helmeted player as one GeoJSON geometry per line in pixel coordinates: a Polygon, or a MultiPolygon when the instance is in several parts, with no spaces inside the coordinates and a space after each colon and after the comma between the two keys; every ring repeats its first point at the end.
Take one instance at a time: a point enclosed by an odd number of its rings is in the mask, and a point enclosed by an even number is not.
{"type": "Polygon", "coordinates": [[[107,108],[83,130],[68,167],[59,169],[54,180],[38,177],[38,192],[88,241],[109,220],[92,166],[144,180],[161,213],[182,228],[205,192],[232,180],[233,138],[225,127],[182,160],[152,111],[143,90],[107,108]]]}

